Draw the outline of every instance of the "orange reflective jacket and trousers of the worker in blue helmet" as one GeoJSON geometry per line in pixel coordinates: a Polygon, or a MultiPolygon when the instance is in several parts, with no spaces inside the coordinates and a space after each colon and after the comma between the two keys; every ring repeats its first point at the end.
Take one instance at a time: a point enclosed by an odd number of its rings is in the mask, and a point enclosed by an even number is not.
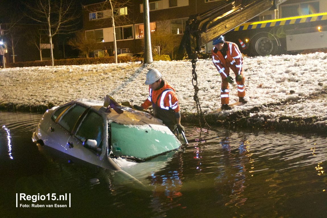
{"type": "Polygon", "coordinates": [[[223,57],[222,53],[218,51],[216,47],[214,47],[211,51],[212,61],[215,67],[217,68],[222,79],[221,90],[220,90],[221,104],[229,104],[229,90],[228,90],[228,82],[226,78],[229,75],[230,68],[234,72],[235,76],[242,75],[242,80],[236,81],[237,92],[238,92],[237,94],[238,97],[245,96],[245,89],[244,89],[245,77],[243,76],[242,54],[235,43],[233,42],[225,42],[225,43],[227,43],[228,46],[225,57],[223,57]]]}

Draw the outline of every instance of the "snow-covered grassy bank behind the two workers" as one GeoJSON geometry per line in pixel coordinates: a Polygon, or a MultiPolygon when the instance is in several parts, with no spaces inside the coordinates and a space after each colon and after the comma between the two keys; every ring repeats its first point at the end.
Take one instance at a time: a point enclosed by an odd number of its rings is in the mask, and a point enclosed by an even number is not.
{"type": "MultiPolygon", "coordinates": [[[[196,63],[198,97],[204,114],[226,116],[258,107],[250,116],[279,121],[281,116],[309,118],[327,125],[327,54],[244,57],[248,103],[220,111],[221,78],[211,59],[196,63]],[[269,104],[282,102],[270,107],[269,104]]],[[[172,85],[179,98],[181,113],[196,113],[193,100],[192,64],[190,60],[97,64],[80,66],[46,66],[6,68],[0,70],[0,104],[21,106],[59,106],[78,98],[104,100],[106,94],[117,102],[141,105],[148,95],[144,84],[149,69],[158,69],[172,85]]],[[[230,85],[230,104],[238,101],[236,83],[230,85]]],[[[271,104],[272,105],[272,104],[271,104]]],[[[287,122],[287,120],[284,120],[287,122]]]]}

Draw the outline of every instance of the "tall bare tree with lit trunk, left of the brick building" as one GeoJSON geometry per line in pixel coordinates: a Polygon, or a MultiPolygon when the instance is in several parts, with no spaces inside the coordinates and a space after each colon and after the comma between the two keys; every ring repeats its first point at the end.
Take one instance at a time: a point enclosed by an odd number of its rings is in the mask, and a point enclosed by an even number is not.
{"type": "Polygon", "coordinates": [[[58,33],[75,32],[75,20],[78,18],[74,0],[37,0],[35,5],[26,5],[31,13],[26,14],[32,20],[47,25],[50,39],[52,66],[54,66],[52,38],[58,33]]]}

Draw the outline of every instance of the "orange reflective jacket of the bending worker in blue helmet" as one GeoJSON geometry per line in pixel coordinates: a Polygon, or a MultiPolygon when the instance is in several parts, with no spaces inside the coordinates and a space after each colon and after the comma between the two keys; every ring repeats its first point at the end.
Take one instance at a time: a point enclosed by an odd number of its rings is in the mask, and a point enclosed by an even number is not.
{"type": "Polygon", "coordinates": [[[220,51],[212,49],[212,61],[217,68],[221,78],[224,79],[229,75],[229,68],[234,71],[235,74],[241,75],[243,57],[238,49],[238,46],[234,42],[226,42],[228,45],[226,56],[223,57],[220,51]],[[215,52],[216,51],[216,52],[215,52]]]}

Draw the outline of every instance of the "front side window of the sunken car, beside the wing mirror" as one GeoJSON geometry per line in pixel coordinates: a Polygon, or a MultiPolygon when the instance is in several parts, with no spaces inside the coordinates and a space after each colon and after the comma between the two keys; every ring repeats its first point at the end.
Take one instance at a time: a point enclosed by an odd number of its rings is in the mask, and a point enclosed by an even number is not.
{"type": "Polygon", "coordinates": [[[103,137],[102,117],[94,111],[90,111],[79,125],[76,137],[82,142],[85,140],[95,140],[96,146],[101,148],[103,137]]]}

